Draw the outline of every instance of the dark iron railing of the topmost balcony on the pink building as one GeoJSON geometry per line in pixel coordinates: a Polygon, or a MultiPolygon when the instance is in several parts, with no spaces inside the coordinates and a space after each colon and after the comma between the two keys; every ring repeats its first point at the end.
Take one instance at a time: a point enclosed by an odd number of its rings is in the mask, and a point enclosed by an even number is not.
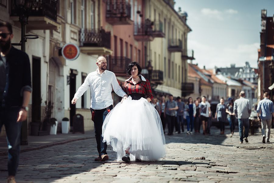
{"type": "Polygon", "coordinates": [[[124,19],[130,19],[131,17],[131,5],[127,1],[106,1],[106,18],[107,21],[110,19],[113,21],[113,18],[118,18],[117,21],[124,19]]]}

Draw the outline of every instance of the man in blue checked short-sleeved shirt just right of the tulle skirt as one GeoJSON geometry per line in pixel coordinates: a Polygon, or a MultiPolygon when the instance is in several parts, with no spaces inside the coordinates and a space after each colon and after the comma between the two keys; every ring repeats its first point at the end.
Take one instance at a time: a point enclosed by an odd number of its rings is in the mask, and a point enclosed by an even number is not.
{"type": "Polygon", "coordinates": [[[169,95],[169,100],[166,102],[166,118],[168,134],[173,135],[174,124],[176,120],[176,110],[178,109],[177,102],[173,100],[173,95],[169,95]]]}

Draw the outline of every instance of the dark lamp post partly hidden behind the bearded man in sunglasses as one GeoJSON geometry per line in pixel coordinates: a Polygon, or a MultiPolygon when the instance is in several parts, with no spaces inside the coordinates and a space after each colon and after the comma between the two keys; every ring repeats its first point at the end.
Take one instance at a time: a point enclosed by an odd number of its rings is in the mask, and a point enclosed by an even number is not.
{"type": "MultiPolygon", "coordinates": [[[[26,52],[25,41],[26,41],[26,24],[28,24],[29,13],[33,7],[32,0],[14,0],[14,9],[16,14],[19,16],[19,22],[21,23],[21,50],[26,52]]],[[[22,122],[21,128],[21,145],[28,145],[28,124],[27,120],[22,122]]]]}

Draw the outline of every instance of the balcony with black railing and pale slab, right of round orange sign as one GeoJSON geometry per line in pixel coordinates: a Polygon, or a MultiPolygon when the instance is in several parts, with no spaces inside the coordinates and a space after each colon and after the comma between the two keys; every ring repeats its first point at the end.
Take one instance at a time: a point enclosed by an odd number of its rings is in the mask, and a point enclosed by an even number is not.
{"type": "Polygon", "coordinates": [[[81,29],[80,51],[88,55],[111,55],[111,32],[104,29],[81,29]]]}

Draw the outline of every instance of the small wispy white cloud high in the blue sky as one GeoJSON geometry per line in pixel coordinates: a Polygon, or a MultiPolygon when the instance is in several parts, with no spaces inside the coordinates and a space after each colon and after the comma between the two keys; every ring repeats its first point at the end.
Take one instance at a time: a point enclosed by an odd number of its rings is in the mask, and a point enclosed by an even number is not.
{"type": "Polygon", "coordinates": [[[224,20],[227,14],[234,15],[237,14],[238,11],[234,9],[226,9],[223,11],[217,9],[203,8],[201,9],[202,15],[208,16],[210,18],[215,18],[217,20],[224,20]]]}

